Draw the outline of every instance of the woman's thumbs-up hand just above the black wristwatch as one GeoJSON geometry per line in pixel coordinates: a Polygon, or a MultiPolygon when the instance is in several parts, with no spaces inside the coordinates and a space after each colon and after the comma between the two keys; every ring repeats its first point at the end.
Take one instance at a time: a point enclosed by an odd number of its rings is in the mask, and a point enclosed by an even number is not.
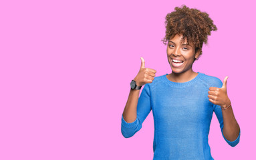
{"type": "Polygon", "coordinates": [[[145,68],[145,61],[142,57],[141,59],[141,65],[140,65],[140,71],[138,71],[138,75],[134,78],[134,81],[136,81],[136,85],[142,86],[146,83],[152,83],[154,80],[154,77],[156,76],[156,70],[145,68]]]}

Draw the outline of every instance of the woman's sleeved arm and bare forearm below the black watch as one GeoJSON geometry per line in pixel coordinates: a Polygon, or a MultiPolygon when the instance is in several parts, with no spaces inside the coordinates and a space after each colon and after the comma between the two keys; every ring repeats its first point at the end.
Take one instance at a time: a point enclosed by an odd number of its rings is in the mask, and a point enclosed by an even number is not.
{"type": "Polygon", "coordinates": [[[140,90],[130,90],[128,101],[122,114],[121,132],[126,138],[132,137],[142,128],[142,123],[151,111],[150,87],[144,85],[142,93],[140,90]]]}

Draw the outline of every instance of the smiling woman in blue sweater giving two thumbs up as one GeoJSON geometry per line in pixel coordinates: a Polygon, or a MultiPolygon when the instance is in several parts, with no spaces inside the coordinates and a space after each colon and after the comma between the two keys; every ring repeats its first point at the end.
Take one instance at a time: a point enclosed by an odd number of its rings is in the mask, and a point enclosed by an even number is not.
{"type": "Polygon", "coordinates": [[[240,127],[227,96],[227,77],[222,83],[217,77],[192,69],[202,54],[203,42],[207,43],[207,36],[217,27],[207,13],[186,5],[175,10],[166,15],[163,40],[168,39],[167,59],[172,73],[155,77],[156,70],[145,68],[141,59],[122,114],[122,135],[132,137],[152,110],[153,159],[213,159],[208,143],[213,112],[225,141],[235,147],[240,139],[240,127]]]}

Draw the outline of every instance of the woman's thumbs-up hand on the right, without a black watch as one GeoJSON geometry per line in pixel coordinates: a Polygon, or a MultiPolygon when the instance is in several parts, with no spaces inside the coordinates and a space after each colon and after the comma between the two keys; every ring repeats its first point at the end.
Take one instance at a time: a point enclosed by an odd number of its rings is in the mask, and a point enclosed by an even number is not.
{"type": "Polygon", "coordinates": [[[221,107],[227,107],[228,105],[230,105],[231,101],[227,96],[227,79],[228,76],[225,77],[221,88],[209,87],[210,91],[208,91],[208,97],[211,103],[219,105],[221,107]]]}

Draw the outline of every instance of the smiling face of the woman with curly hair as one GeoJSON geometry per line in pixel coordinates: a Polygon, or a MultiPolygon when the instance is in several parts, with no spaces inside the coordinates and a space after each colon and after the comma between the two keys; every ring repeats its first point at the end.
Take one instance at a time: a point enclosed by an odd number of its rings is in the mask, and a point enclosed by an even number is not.
{"type": "Polygon", "coordinates": [[[168,41],[167,57],[170,67],[172,68],[172,72],[174,73],[192,71],[194,60],[199,57],[199,51],[195,54],[194,44],[186,44],[186,39],[184,43],[182,43],[180,41],[181,39],[182,35],[177,34],[168,41]]]}

